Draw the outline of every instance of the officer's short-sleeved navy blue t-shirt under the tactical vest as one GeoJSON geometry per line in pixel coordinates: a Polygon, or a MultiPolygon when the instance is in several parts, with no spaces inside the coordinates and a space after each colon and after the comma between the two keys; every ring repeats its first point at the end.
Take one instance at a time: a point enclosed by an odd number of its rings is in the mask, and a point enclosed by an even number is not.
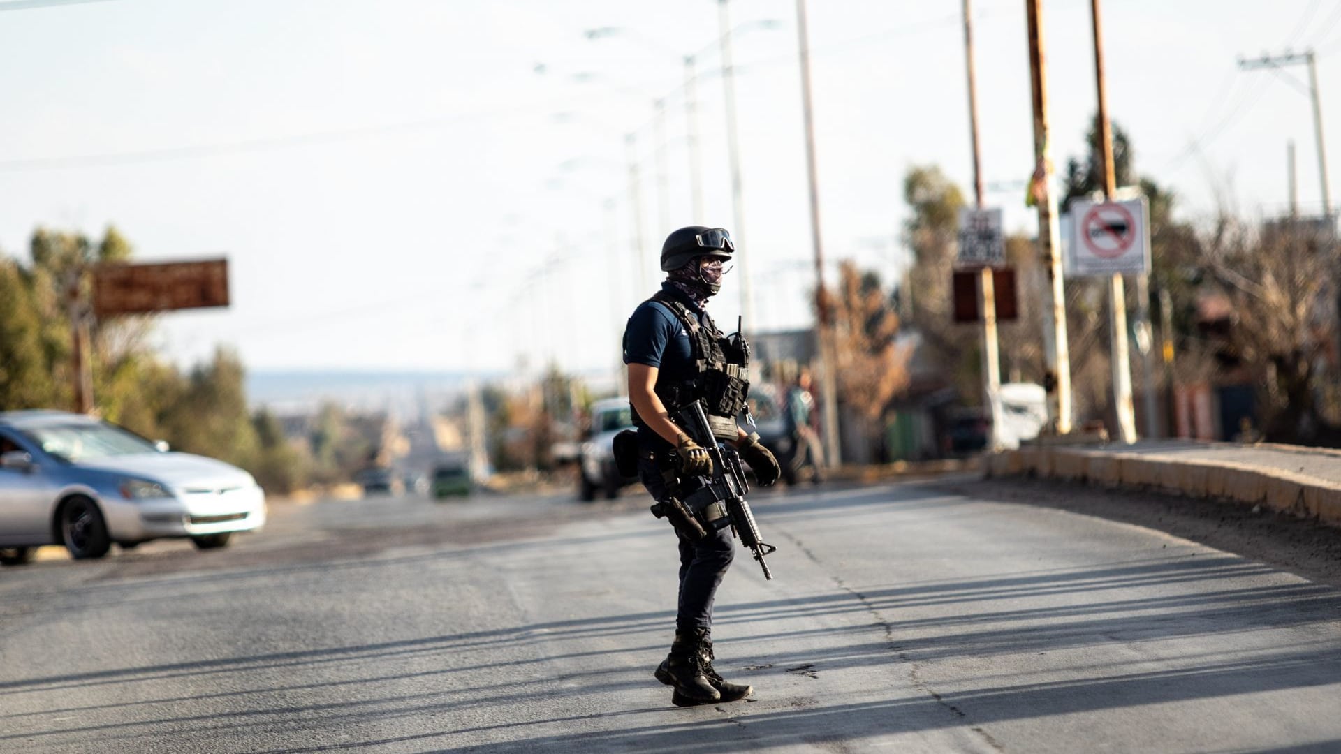
{"type": "MultiPolygon", "coordinates": [[[[691,313],[699,315],[699,322],[707,325],[703,310],[680,288],[661,283],[661,290],[688,306],[691,313]]],[[[629,325],[624,329],[624,362],[656,366],[658,384],[679,382],[695,374],[689,333],[670,309],[652,301],[642,302],[629,317],[629,325]]],[[[644,448],[670,447],[661,436],[644,427],[638,428],[638,443],[644,448]]]]}

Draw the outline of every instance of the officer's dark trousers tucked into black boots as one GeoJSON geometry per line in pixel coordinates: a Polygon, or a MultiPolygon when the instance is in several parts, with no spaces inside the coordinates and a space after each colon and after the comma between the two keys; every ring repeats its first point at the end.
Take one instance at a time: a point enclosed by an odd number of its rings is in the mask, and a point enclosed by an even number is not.
{"type": "MultiPolygon", "coordinates": [[[[657,500],[670,496],[665,478],[661,476],[661,471],[669,464],[669,459],[649,459],[640,453],[638,478],[657,500]]],[[[736,555],[731,527],[715,531],[708,529],[708,535],[697,542],[688,541],[679,530],[676,537],[680,539],[680,604],[676,609],[676,631],[711,629],[712,600],[717,594],[721,577],[731,568],[731,559],[736,555]]]]}

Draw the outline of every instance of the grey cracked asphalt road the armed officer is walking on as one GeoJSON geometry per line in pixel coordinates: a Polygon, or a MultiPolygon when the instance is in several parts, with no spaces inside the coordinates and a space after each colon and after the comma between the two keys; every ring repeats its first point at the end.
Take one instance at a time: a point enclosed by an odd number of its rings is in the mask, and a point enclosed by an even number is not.
{"type": "Polygon", "coordinates": [[[676,708],[633,495],[274,506],[224,551],[0,570],[0,751],[1336,751],[1341,590],[935,484],[755,498],[676,708]]]}

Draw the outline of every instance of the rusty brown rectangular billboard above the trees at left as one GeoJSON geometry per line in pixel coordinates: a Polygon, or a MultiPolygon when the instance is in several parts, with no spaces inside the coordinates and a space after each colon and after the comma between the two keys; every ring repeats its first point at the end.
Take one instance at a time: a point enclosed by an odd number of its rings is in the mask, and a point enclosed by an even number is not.
{"type": "Polygon", "coordinates": [[[93,274],[98,317],[228,306],[228,260],[105,264],[93,274]]]}

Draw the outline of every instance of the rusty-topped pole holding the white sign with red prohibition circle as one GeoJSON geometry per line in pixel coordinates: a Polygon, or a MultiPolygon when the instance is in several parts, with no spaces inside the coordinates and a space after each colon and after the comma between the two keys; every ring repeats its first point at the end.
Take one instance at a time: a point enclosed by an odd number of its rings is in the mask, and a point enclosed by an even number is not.
{"type": "MultiPolygon", "coordinates": [[[[1094,83],[1098,93],[1100,156],[1104,160],[1104,200],[1113,201],[1117,193],[1113,170],[1113,129],[1108,121],[1108,91],[1104,82],[1104,35],[1100,27],[1098,0],[1090,0],[1094,28],[1094,83]]],[[[1112,346],[1113,408],[1117,412],[1117,431],[1124,443],[1136,441],[1136,411],[1132,405],[1132,361],[1126,342],[1126,290],[1122,275],[1108,279],[1108,334],[1112,346]]]]}

